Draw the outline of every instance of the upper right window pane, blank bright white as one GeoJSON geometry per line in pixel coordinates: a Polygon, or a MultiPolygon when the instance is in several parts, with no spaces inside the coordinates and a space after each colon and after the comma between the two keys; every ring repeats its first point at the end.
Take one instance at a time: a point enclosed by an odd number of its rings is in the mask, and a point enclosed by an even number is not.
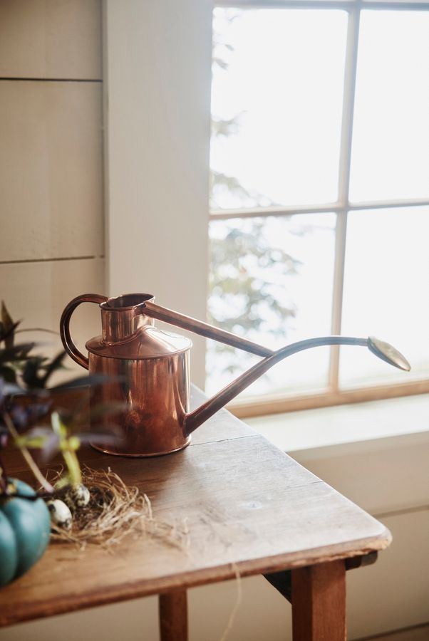
{"type": "Polygon", "coordinates": [[[350,194],[429,196],[429,12],[362,11],[350,194]]]}

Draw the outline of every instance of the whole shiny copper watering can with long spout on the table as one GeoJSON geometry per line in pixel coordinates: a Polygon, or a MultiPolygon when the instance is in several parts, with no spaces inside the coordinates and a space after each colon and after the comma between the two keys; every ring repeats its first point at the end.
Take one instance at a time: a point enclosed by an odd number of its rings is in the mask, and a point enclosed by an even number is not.
{"type": "Polygon", "coordinates": [[[361,345],[387,363],[410,370],[398,350],[376,338],[324,336],[273,351],[161,307],[147,293],[73,298],[61,316],[61,340],[71,358],[90,374],[112,377],[95,388],[92,402],[126,402],[127,410],[120,417],[122,437],[102,451],[127,457],[159,456],[186,447],[192,432],[217,410],[280,360],[301,350],[318,345],[361,345]],[[102,335],[86,343],[89,358],[76,348],[70,333],[71,315],[81,303],[98,303],[101,311],[102,335]],[[190,412],[192,341],[156,328],[155,318],[264,358],[190,412]]]}

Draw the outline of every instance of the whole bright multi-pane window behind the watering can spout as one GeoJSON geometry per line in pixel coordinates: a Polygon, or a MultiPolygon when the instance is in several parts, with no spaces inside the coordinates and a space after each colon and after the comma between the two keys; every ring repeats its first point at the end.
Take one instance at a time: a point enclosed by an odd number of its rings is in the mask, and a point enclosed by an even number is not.
{"type": "MultiPolygon", "coordinates": [[[[373,334],[412,365],[317,348],[235,412],[429,391],[429,2],[217,4],[210,320],[270,348],[373,334]]],[[[207,391],[253,358],[210,345],[207,391]]]]}

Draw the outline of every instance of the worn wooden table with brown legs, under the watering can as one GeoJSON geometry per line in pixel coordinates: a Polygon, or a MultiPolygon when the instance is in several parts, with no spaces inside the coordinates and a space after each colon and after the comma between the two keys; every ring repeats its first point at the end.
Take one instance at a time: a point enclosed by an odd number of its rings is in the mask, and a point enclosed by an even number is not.
{"type": "MultiPolygon", "coordinates": [[[[130,536],[114,554],[91,546],[76,556],[51,544],[0,590],[1,625],[159,594],[162,641],[185,641],[187,588],[263,574],[291,600],[294,641],[343,641],[346,569],[374,561],[391,541],[381,523],[225,410],[177,454],[125,459],[88,449],[83,459],[148,494],[155,517],[186,518],[189,549],[130,536]]],[[[12,466],[24,478],[18,456],[12,466]]]]}

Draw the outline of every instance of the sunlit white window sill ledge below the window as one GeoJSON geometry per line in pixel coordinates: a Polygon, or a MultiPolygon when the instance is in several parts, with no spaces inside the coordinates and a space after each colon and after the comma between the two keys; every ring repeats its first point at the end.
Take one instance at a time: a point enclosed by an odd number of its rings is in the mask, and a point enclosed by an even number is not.
{"type": "Polygon", "coordinates": [[[429,394],[245,419],[284,452],[418,434],[429,429],[429,394]]]}

